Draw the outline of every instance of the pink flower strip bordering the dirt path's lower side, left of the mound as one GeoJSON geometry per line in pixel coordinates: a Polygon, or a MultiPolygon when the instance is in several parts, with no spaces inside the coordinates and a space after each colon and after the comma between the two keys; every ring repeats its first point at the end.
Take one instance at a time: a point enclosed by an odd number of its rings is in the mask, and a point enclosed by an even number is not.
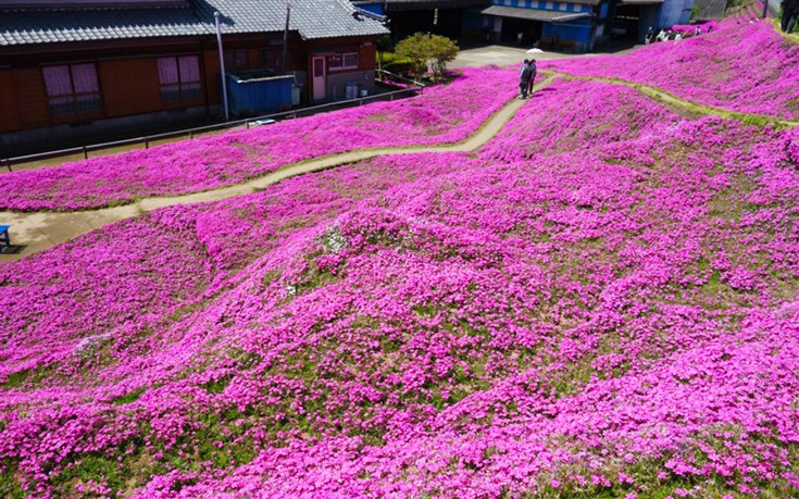
{"type": "Polygon", "coordinates": [[[0,316],[0,383],[97,374],[87,360],[129,363],[121,360],[128,350],[141,353],[132,347],[139,339],[157,350],[171,322],[229,287],[284,238],[397,183],[449,170],[445,157],[467,162],[457,154],[437,155],[437,164],[424,155],[376,159],[269,194],[161,210],[1,266],[0,305],[14,313],[0,316]]]}

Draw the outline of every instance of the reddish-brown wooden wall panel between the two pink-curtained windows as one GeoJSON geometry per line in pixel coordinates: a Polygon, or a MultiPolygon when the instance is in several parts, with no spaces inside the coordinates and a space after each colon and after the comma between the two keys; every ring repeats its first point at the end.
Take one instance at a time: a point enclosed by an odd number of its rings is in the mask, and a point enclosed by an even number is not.
{"type": "Polygon", "coordinates": [[[98,73],[105,116],[161,110],[161,87],[155,59],[100,61],[98,73]]]}

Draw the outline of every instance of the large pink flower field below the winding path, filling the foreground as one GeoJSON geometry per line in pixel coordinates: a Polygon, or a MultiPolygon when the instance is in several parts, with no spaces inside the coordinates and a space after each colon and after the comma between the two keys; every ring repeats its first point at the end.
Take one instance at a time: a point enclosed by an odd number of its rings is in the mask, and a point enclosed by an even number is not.
{"type": "Polygon", "coordinates": [[[798,223],[799,129],[557,79],[112,224],[0,265],[0,496],[798,497],[798,223]]]}

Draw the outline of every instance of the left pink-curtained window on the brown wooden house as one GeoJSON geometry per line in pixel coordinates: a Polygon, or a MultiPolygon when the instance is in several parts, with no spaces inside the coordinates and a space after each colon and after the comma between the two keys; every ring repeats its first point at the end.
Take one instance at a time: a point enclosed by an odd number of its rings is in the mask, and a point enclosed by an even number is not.
{"type": "Polygon", "coordinates": [[[68,116],[102,111],[95,63],[45,66],[41,74],[51,115],[68,116]]]}

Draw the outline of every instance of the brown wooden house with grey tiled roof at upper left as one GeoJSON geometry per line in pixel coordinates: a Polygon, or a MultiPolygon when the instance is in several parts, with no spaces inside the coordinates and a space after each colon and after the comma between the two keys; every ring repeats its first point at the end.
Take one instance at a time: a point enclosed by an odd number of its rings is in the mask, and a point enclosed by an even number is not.
{"type": "Polygon", "coordinates": [[[222,61],[292,75],[296,104],[371,92],[383,21],[347,0],[0,0],[0,158],[220,116],[222,61]]]}

